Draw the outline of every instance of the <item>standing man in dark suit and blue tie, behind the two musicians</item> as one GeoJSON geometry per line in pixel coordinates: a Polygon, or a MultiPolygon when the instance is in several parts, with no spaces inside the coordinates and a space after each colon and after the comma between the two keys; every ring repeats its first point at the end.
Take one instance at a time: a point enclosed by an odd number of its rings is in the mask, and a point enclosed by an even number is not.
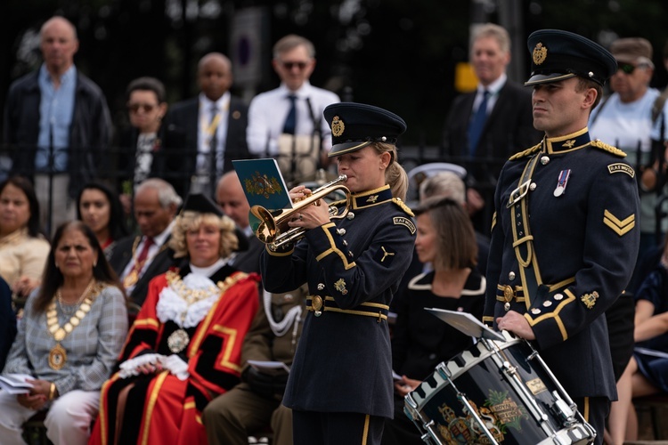
{"type": "Polygon", "coordinates": [[[470,60],[477,90],[452,101],[444,126],[444,150],[468,170],[467,204],[477,231],[489,232],[494,185],[503,162],[518,150],[534,145],[541,134],[531,117],[531,93],[509,80],[510,36],[487,23],[471,38],[470,60]],[[481,107],[482,105],[482,107],[481,107]]]}

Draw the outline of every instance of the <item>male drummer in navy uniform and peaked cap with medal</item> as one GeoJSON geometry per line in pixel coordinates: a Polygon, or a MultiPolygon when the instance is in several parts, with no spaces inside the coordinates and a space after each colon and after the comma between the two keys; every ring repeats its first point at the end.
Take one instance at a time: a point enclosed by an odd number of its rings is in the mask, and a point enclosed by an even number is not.
{"type": "Polygon", "coordinates": [[[494,196],[484,320],[533,341],[602,443],[615,376],[601,317],[631,279],[639,247],[635,172],[591,141],[587,122],[615,58],[566,31],[528,39],[534,127],[494,196]]]}

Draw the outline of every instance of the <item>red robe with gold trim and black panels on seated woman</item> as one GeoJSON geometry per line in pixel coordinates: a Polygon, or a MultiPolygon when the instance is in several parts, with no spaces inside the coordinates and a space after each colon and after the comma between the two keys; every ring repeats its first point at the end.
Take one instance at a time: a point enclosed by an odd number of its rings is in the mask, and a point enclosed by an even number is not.
{"type": "MultiPolygon", "coordinates": [[[[186,266],[179,275],[189,272],[186,266]]],[[[119,363],[144,353],[173,353],[167,347],[167,337],[179,327],[171,320],[160,322],[156,313],[160,291],[168,286],[168,273],[151,280],[119,363]]],[[[169,371],[127,378],[115,373],[102,386],[100,414],[89,444],[114,443],[118,392],[132,383],[118,443],[208,443],[201,412],[208,401],[240,382],[241,344],[259,307],[257,275],[224,266],[210,279],[223,281],[227,288],[196,327],[185,329],[190,344],[180,355],[188,363],[190,376],[182,381],[169,371]]]]}

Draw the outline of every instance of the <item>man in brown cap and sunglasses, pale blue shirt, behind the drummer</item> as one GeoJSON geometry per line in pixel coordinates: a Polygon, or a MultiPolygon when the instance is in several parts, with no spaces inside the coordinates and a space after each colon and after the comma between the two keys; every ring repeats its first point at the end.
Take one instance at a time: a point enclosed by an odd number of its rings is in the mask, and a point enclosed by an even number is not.
{"type": "MultiPolygon", "coordinates": [[[[610,142],[623,150],[640,178],[652,163],[652,107],[659,96],[658,90],[649,86],[654,75],[652,45],[642,37],[615,40],[610,53],[617,61],[617,71],[610,78],[613,91],[591,113],[589,128],[592,138],[610,142]]],[[[642,185],[642,184],[640,184],[642,185]]],[[[640,248],[639,259],[654,247],[656,239],[656,191],[640,187],[640,248]]],[[[666,224],[659,228],[659,237],[665,233],[666,224]]],[[[634,272],[629,290],[639,283],[634,272]]]]}

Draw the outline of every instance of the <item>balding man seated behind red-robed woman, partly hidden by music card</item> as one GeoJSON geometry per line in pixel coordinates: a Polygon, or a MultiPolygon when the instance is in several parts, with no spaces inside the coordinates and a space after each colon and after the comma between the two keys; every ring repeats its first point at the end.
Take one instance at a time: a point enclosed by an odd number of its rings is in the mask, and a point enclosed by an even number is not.
{"type": "Polygon", "coordinates": [[[265,245],[257,239],[248,222],[250,206],[237,172],[227,172],[220,178],[216,186],[216,202],[248,239],[248,249],[235,254],[232,266],[240,271],[260,273],[260,253],[265,245]]]}

